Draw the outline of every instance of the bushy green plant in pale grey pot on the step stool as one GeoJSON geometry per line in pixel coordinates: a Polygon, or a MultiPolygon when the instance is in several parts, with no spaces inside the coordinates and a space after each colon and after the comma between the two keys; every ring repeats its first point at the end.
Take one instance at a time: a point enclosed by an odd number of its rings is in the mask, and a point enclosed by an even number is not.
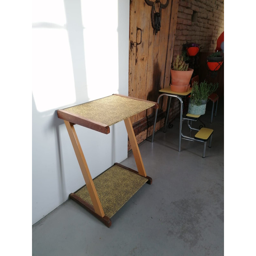
{"type": "Polygon", "coordinates": [[[188,113],[192,115],[204,115],[207,99],[209,95],[217,90],[218,86],[218,83],[212,84],[204,81],[199,85],[198,82],[194,82],[189,98],[188,113]]]}

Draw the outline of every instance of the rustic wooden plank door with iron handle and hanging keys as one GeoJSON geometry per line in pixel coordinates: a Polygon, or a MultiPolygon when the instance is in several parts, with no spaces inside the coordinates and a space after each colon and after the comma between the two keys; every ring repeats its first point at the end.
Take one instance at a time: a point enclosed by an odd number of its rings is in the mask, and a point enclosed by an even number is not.
{"type": "MultiPolygon", "coordinates": [[[[168,1],[163,0],[163,2],[166,4],[168,1]]],[[[151,24],[152,6],[148,3],[154,2],[130,0],[129,40],[139,43],[142,38],[142,41],[141,44],[129,49],[129,96],[157,101],[158,91],[170,84],[178,0],[170,0],[167,7],[162,8],[161,28],[157,33],[154,33],[151,24]]],[[[156,12],[159,5],[160,3],[155,3],[156,12]]],[[[166,101],[161,107],[166,110],[166,101]]],[[[143,118],[148,119],[148,116],[153,115],[153,109],[148,109],[133,116],[132,123],[143,118]]],[[[146,136],[149,135],[147,132],[146,136]]]]}

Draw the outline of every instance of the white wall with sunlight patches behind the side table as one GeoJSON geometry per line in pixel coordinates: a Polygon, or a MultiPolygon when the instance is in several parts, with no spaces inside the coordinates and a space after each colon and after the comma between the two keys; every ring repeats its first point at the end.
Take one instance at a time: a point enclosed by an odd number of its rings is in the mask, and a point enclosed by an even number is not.
{"type": "MultiPolygon", "coordinates": [[[[56,110],[128,95],[129,1],[34,0],[32,224],[84,185],[56,110]]],[[[124,122],[108,135],[75,126],[92,178],[127,157],[124,122]]]]}

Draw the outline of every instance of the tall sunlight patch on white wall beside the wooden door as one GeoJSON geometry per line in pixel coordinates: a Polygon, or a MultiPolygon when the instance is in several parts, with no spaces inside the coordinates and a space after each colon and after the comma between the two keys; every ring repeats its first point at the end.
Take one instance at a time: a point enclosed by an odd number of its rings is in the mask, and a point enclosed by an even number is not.
{"type": "Polygon", "coordinates": [[[81,0],[89,100],[118,93],[118,2],[81,0]],[[100,31],[100,32],[97,32],[100,31]]]}

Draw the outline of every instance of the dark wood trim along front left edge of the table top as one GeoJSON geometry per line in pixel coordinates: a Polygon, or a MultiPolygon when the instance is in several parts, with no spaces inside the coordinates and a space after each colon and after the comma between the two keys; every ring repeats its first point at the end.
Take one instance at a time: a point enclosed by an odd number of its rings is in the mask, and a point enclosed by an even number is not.
{"type": "Polygon", "coordinates": [[[66,120],[70,123],[82,125],[97,132],[102,132],[105,134],[110,132],[109,126],[107,124],[102,124],[83,116],[70,113],[64,109],[57,110],[57,115],[60,119],[66,120]]]}

